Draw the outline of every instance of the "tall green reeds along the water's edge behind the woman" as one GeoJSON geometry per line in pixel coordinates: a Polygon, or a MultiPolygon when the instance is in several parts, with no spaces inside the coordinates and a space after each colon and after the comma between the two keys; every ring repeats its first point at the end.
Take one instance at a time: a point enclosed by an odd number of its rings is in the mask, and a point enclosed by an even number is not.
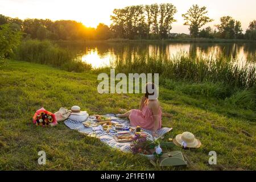
{"type": "Polygon", "coordinates": [[[191,56],[180,52],[170,58],[140,55],[118,59],[115,69],[124,73],[159,73],[161,78],[192,82],[223,82],[228,86],[251,88],[256,82],[256,65],[239,65],[224,56],[191,56]]]}

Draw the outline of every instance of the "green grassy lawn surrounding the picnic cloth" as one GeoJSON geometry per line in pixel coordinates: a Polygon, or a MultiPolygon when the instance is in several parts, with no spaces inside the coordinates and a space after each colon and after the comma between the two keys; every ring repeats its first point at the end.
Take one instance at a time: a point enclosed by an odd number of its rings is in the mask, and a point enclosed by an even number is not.
{"type": "MultiPolygon", "coordinates": [[[[160,84],[163,126],[174,128],[163,140],[191,131],[203,144],[196,150],[182,150],[191,163],[187,168],[155,168],[143,156],[114,150],[96,138],[68,129],[63,122],[52,128],[32,125],[32,115],[42,106],[57,111],[62,106],[79,105],[89,114],[138,107],[140,94],[98,94],[97,84],[97,74],[92,71],[72,73],[47,65],[6,60],[0,68],[0,169],[256,169],[256,114],[237,107],[235,99],[248,93],[230,95],[227,99],[231,101],[225,102],[215,98],[214,92],[209,92],[208,97],[191,94],[193,89],[186,93],[182,84],[179,87],[178,83],[169,82],[168,88],[160,84]],[[41,150],[47,155],[44,166],[37,162],[41,150]],[[209,151],[217,152],[216,166],[208,164],[209,151]]],[[[175,146],[172,150],[181,149],[175,146]]]]}

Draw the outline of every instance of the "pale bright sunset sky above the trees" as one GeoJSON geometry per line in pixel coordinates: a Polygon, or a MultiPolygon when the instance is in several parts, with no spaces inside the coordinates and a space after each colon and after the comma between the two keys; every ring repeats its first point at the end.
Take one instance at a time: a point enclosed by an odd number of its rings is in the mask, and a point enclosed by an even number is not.
{"type": "Polygon", "coordinates": [[[110,15],[115,8],[130,5],[149,5],[152,3],[173,3],[177,8],[171,32],[188,33],[188,26],[183,26],[184,14],[193,4],[207,6],[208,15],[214,21],[207,26],[219,23],[221,16],[230,15],[242,22],[243,31],[249,22],[256,19],[255,0],[0,0],[0,14],[12,18],[72,19],[82,22],[85,26],[96,27],[102,22],[110,25],[110,15]]]}

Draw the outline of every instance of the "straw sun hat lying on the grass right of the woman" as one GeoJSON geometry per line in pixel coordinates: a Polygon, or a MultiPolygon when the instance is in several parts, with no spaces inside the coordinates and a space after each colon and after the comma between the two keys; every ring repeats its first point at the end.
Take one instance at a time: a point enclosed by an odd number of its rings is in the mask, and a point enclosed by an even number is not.
{"type": "Polygon", "coordinates": [[[184,148],[199,148],[201,146],[201,142],[199,139],[195,138],[195,135],[192,133],[185,131],[182,134],[179,134],[173,140],[176,146],[184,147],[184,148]]]}

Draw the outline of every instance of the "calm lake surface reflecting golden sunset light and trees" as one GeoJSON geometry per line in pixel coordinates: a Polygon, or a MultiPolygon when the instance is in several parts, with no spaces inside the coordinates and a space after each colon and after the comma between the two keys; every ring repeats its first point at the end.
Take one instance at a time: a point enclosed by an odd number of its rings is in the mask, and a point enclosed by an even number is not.
{"type": "Polygon", "coordinates": [[[180,53],[193,57],[230,57],[243,65],[246,61],[256,62],[255,43],[59,43],[61,47],[75,51],[82,61],[93,68],[110,66],[120,59],[133,59],[135,56],[166,56],[171,59],[180,53]]]}

